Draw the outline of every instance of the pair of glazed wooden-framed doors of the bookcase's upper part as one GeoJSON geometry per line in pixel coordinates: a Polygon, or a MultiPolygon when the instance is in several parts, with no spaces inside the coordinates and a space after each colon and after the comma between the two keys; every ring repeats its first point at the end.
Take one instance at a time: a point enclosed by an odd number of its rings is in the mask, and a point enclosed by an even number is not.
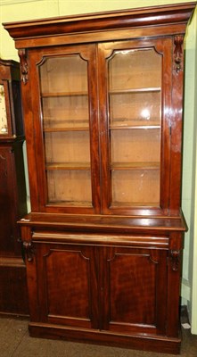
{"type": "Polygon", "coordinates": [[[171,47],[165,38],[31,50],[32,211],[168,214],[171,47]]]}

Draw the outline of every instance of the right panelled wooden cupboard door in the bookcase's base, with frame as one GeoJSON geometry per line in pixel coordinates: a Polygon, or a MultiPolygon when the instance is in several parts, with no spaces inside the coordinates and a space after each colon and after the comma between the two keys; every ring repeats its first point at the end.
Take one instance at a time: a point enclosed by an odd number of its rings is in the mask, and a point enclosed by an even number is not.
{"type": "Polygon", "coordinates": [[[165,335],[167,251],[106,248],[103,264],[103,329],[165,335]]]}

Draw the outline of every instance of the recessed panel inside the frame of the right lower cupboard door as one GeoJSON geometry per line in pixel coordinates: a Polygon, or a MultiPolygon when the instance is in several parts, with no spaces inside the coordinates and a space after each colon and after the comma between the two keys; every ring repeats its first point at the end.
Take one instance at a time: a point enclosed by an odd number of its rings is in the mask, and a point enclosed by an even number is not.
{"type": "Polygon", "coordinates": [[[149,254],[115,254],[110,262],[111,321],[155,325],[156,264],[149,254]]]}

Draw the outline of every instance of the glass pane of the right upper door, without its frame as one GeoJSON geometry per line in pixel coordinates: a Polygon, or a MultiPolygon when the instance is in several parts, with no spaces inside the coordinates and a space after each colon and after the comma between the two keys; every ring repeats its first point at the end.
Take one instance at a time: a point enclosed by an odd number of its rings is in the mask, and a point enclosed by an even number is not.
{"type": "Polygon", "coordinates": [[[159,206],[161,56],[116,51],[108,64],[111,204],[159,206]]]}

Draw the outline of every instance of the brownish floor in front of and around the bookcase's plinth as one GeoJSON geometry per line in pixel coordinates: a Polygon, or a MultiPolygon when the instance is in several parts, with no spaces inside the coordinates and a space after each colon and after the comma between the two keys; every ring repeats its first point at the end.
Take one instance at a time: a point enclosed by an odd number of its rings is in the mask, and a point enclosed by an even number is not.
{"type": "MultiPolygon", "coordinates": [[[[172,357],[101,345],[38,339],[29,336],[28,320],[0,318],[0,357],[172,357]]],[[[197,336],[183,329],[182,357],[197,357],[197,336]]]]}

